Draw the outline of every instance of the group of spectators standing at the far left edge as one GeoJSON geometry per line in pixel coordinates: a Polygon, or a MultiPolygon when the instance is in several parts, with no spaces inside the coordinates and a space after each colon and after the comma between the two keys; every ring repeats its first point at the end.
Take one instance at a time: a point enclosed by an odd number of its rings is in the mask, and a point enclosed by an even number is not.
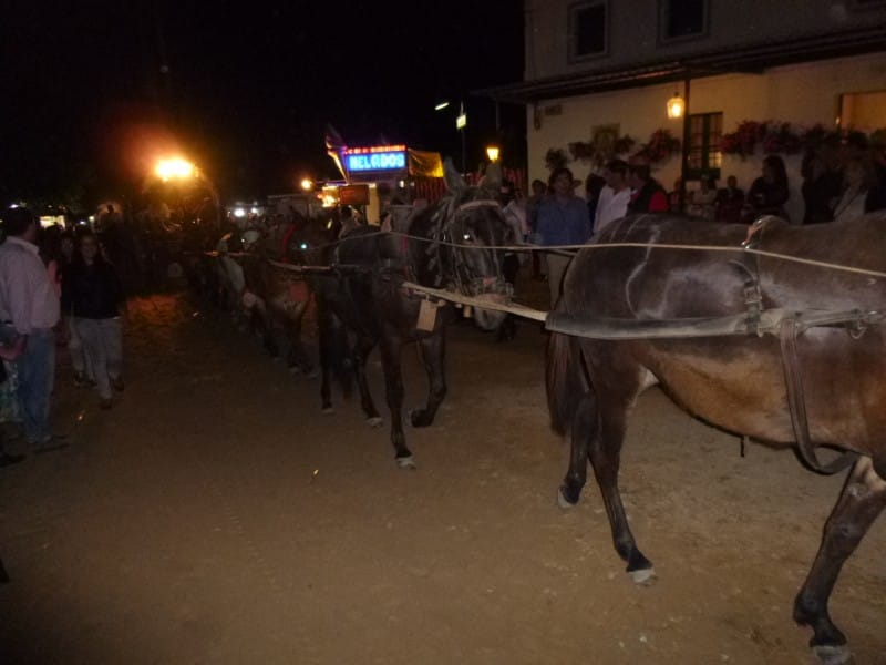
{"type": "MultiPolygon", "coordinates": [[[[24,207],[2,215],[0,420],[21,427],[31,451],[64,446],[51,427],[56,348],[66,346],[80,386],[109,409],[122,392],[123,289],[95,234],[41,228],[24,207]]],[[[0,441],[0,467],[21,461],[0,441]]]]}

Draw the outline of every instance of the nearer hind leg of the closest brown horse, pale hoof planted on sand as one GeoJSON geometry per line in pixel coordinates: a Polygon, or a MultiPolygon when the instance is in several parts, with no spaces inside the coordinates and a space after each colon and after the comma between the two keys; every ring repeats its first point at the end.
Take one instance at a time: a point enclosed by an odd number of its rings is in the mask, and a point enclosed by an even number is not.
{"type": "Polygon", "coordinates": [[[631,579],[637,584],[649,584],[655,581],[656,572],[652,562],[637,548],[618,490],[621,444],[627,430],[627,406],[626,402],[607,401],[600,402],[599,408],[600,427],[597,436],[590,439],[588,457],[606,505],[612,543],[619,556],[627,562],[627,572],[631,579]]]}

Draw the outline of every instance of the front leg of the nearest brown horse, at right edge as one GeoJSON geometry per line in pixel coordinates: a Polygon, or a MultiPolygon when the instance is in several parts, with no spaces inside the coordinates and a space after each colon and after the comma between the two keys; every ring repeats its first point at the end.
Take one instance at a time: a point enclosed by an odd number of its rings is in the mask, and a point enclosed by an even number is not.
{"type": "Polygon", "coordinates": [[[861,458],[849,473],[831,516],[810,574],[794,600],[794,621],[812,627],[810,641],[823,663],[848,663],[846,637],[831,621],[827,601],[843,564],[886,507],[886,481],[870,458],[861,458]]]}

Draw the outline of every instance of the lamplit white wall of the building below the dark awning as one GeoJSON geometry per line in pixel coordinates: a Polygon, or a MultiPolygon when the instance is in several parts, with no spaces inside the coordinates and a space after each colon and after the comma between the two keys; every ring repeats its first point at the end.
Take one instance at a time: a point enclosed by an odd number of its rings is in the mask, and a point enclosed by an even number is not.
{"type": "MultiPolygon", "coordinates": [[[[734,131],[743,120],[777,120],[805,126],[821,123],[830,127],[834,126],[841,93],[873,90],[886,90],[886,53],[777,68],[760,75],[730,74],[693,80],[690,112],[722,112],[724,132],[734,131]]],[[[682,121],[668,120],[664,110],[673,92],[674,86],[666,84],[549,100],[542,103],[542,108],[559,104],[563,114],[545,116],[542,113],[540,130],[533,127],[533,109],[529,108],[529,178],[547,180],[545,153],[548,149],[560,147],[568,154],[569,143],[590,140],[594,125],[619,123],[620,133],[629,134],[638,143],[646,142],[657,129],[669,129],[680,136],[682,121]]],[[[760,154],[742,160],[724,155],[721,180],[735,175],[739,186],[746,190],[760,174],[762,157],[760,154]]],[[[787,212],[793,221],[802,218],[803,213],[800,160],[801,155],[785,157],[791,181],[787,212]]],[[[569,167],[583,180],[591,170],[581,162],[573,162],[569,167]]],[[[653,167],[655,177],[666,188],[672,186],[679,174],[679,155],[653,167]]]]}

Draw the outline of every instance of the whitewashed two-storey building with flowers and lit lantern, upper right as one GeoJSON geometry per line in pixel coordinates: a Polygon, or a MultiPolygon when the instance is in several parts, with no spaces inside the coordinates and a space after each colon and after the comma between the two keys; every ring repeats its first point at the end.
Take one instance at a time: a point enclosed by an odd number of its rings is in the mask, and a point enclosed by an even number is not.
{"type": "Polygon", "coordinates": [[[530,178],[547,177],[550,151],[578,178],[607,155],[639,152],[666,188],[681,174],[689,188],[701,174],[735,175],[746,188],[764,146],[733,151],[722,140],[767,123],[783,127],[765,149],[785,158],[797,221],[796,137],[815,125],[886,127],[886,0],[525,0],[524,11],[524,81],[481,92],[526,104],[530,178]],[[688,119],[668,117],[676,94],[688,119]],[[632,145],[618,142],[626,136],[632,145]],[[668,156],[662,136],[684,141],[687,154],[668,156]]]}

